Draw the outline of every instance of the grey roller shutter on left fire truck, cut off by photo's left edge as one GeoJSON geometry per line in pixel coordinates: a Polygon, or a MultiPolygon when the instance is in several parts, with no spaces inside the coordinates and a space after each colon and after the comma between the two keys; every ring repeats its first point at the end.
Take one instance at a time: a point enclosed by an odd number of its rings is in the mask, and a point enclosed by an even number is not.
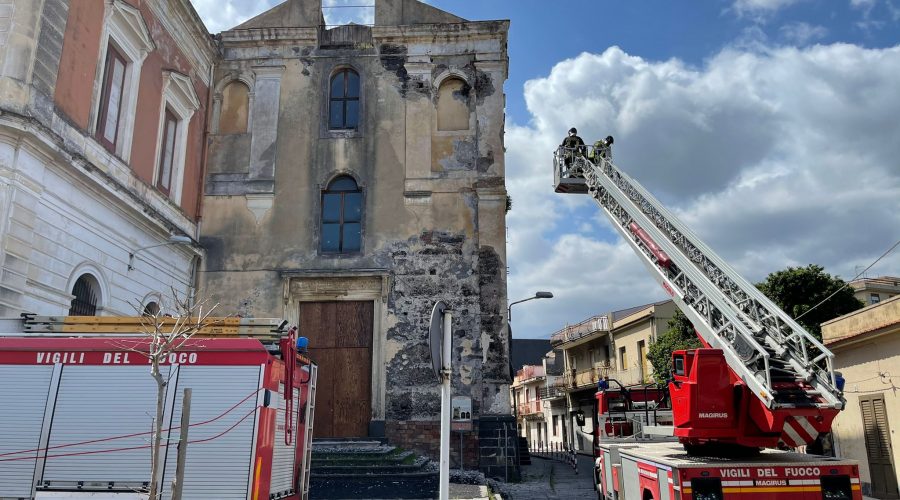
{"type": "MultiPolygon", "coordinates": [[[[9,453],[40,446],[52,366],[0,366],[0,460],[24,458],[9,453]],[[15,381],[10,383],[10,381],[15,381]]],[[[37,452],[32,452],[34,457],[37,452]]],[[[0,461],[0,497],[31,498],[35,461],[0,461]]]]}

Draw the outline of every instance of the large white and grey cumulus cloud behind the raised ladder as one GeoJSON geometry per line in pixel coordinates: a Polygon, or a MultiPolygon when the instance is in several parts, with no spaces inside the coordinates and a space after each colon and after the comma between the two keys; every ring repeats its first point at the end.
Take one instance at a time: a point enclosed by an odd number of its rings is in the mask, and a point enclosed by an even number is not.
{"type": "MultiPolygon", "coordinates": [[[[617,164],[751,281],[817,263],[844,278],[900,239],[900,47],[728,48],[703,67],[612,47],[525,86],[507,128],[516,336],[664,298],[586,196],[552,190],[569,127],[616,137],[617,164]],[[585,232],[587,224],[598,227],[585,232]]],[[[900,252],[869,275],[900,272],[900,252]]]]}

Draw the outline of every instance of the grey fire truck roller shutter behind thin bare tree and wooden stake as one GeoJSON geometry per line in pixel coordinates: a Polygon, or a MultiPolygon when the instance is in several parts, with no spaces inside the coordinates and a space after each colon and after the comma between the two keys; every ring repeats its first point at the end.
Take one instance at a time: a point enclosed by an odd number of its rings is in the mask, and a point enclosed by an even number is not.
{"type": "MultiPolygon", "coordinates": [[[[214,419],[215,422],[191,427],[188,432],[187,466],[184,469],[184,498],[210,500],[246,500],[253,473],[253,434],[257,425],[257,391],[261,386],[259,366],[184,366],[178,370],[172,425],[181,422],[183,389],[190,387],[191,424],[214,419]],[[247,396],[252,397],[247,398],[247,396]],[[240,405],[228,411],[238,402],[240,405]],[[243,419],[243,420],[241,420],[243,419]],[[231,430],[228,430],[235,424],[231,430]],[[222,436],[216,437],[225,431],[222,436]],[[195,442],[214,438],[210,441],[195,442]]],[[[178,431],[170,438],[178,440],[178,431]]],[[[178,448],[169,447],[163,477],[163,498],[172,498],[172,479],[178,448]]]]}

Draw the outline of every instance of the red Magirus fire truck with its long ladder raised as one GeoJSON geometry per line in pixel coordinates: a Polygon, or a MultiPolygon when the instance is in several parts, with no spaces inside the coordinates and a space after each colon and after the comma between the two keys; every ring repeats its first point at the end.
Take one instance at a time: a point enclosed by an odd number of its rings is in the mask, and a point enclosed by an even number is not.
{"type": "Polygon", "coordinates": [[[556,192],[594,198],[704,348],[673,353],[668,398],[598,387],[598,496],[861,499],[854,462],[773,449],[830,431],[845,403],[834,355],[616,167],[611,144],[557,150],[556,192]]]}

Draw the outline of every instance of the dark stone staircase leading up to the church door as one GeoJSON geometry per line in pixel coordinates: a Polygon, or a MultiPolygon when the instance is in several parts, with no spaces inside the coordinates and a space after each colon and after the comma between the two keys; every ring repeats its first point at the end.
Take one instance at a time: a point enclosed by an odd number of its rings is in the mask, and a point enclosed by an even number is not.
{"type": "Polygon", "coordinates": [[[313,440],[310,499],[436,498],[438,469],[380,440],[313,440]]]}

